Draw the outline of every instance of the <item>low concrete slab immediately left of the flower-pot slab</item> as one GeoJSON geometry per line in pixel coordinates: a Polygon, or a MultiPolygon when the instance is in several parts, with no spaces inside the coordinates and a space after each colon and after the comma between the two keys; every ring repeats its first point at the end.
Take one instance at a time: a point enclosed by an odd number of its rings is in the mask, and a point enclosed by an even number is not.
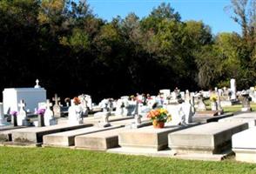
{"type": "Polygon", "coordinates": [[[126,131],[127,128],[119,128],[109,131],[101,131],[75,137],[76,148],[105,151],[118,147],[118,133],[126,131]]]}

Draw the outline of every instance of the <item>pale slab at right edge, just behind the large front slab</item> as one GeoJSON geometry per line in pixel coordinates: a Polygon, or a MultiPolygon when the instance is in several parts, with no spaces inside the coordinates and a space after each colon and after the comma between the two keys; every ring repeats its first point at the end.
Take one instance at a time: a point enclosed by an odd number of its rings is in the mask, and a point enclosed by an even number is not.
{"type": "Polygon", "coordinates": [[[219,119],[219,122],[240,122],[248,123],[249,127],[254,127],[256,125],[256,112],[242,113],[232,117],[226,117],[219,119]]]}

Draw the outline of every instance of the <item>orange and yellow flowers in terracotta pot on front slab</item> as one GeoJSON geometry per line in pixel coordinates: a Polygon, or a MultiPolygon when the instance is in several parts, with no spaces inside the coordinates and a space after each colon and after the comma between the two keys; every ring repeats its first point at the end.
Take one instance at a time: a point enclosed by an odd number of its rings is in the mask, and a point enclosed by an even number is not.
{"type": "Polygon", "coordinates": [[[152,124],[154,128],[164,128],[165,123],[172,120],[172,116],[168,114],[168,111],[164,108],[158,108],[151,110],[147,117],[152,119],[152,124]]]}

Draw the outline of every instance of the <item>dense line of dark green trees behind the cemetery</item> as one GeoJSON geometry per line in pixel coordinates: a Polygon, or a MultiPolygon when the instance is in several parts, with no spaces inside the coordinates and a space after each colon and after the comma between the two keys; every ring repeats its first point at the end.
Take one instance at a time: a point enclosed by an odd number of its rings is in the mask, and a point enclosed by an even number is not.
{"type": "Polygon", "coordinates": [[[239,88],[256,79],[256,3],[226,8],[242,33],[212,34],[183,21],[170,3],[147,17],[105,21],[86,1],[0,1],[0,89],[30,87],[39,78],[49,97],[90,94],[96,100],[159,89],[239,88]]]}

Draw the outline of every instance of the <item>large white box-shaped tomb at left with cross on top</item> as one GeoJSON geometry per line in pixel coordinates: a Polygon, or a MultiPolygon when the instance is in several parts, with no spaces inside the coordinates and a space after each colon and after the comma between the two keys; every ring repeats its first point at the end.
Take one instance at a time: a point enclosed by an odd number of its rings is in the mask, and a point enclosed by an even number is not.
{"type": "MultiPolygon", "coordinates": [[[[37,86],[37,85],[36,85],[37,86]]],[[[3,112],[7,114],[10,110],[18,110],[20,100],[26,102],[26,109],[33,111],[37,104],[46,101],[46,90],[44,88],[6,88],[3,90],[3,112]]]]}

